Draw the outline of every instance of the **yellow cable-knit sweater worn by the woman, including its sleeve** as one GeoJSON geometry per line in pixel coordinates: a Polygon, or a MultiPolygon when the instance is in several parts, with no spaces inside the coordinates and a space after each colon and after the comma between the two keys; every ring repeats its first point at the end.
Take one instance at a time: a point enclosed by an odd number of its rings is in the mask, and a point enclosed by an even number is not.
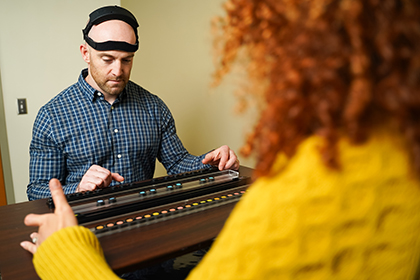
{"type": "MultiPolygon", "coordinates": [[[[385,133],[361,146],[343,139],[340,172],[322,164],[320,141],[306,140],[289,162],[279,159],[274,177],[250,187],[189,280],[413,278],[420,183],[402,141],[385,133]]],[[[83,227],[53,234],[34,264],[43,279],[116,277],[83,227]]]]}

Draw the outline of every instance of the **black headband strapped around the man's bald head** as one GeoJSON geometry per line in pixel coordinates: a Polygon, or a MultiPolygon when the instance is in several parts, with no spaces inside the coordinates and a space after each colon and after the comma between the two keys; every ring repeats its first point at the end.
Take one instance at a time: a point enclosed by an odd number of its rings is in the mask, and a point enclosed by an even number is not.
{"type": "Polygon", "coordinates": [[[136,18],[128,10],[119,6],[106,6],[93,11],[89,15],[89,21],[82,32],[86,43],[88,43],[89,46],[97,51],[120,50],[126,52],[135,52],[139,48],[139,36],[137,34],[137,27],[139,27],[139,24],[137,23],[136,18]],[[92,38],[88,36],[89,31],[94,25],[98,25],[104,21],[114,19],[122,20],[133,28],[134,33],[136,34],[136,43],[134,45],[121,41],[106,41],[98,43],[93,41],[92,38]]]}

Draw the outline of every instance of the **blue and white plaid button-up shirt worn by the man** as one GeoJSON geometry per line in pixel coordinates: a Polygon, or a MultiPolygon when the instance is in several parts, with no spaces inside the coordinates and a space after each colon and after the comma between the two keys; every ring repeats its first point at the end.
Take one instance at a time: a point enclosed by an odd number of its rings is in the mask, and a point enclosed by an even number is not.
{"type": "MultiPolygon", "coordinates": [[[[128,82],[114,104],[86,81],[62,91],[38,112],[30,145],[29,200],[50,197],[48,182],[61,181],[75,192],[93,164],[119,173],[125,183],[153,178],[156,158],[168,174],[204,168],[179,140],[164,102],[128,82]]],[[[112,182],[112,185],[118,182],[112,182]]]]}

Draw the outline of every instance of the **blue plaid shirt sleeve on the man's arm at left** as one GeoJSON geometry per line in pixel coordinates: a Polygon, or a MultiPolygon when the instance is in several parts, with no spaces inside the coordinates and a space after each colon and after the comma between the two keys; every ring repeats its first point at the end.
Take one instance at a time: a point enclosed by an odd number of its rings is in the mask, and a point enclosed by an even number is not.
{"type": "Polygon", "coordinates": [[[77,184],[65,183],[66,162],[63,148],[54,138],[53,124],[45,108],[41,108],[35,119],[29,154],[29,185],[26,190],[29,200],[50,197],[48,183],[52,178],[60,180],[65,193],[76,191],[77,184]]]}

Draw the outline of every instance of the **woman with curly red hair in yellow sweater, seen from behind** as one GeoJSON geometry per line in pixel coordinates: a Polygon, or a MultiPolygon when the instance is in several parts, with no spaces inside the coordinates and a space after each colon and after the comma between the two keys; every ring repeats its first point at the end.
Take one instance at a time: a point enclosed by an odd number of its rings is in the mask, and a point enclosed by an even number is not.
{"type": "MultiPolygon", "coordinates": [[[[241,61],[247,89],[263,87],[253,92],[264,105],[243,149],[257,155],[258,180],[188,279],[414,278],[420,3],[231,0],[225,9],[215,77],[241,61]]],[[[58,182],[51,188],[60,198],[58,182]]],[[[97,239],[74,221],[66,227],[71,209],[60,204],[67,215],[25,221],[40,226],[39,239],[65,227],[35,253],[39,275],[115,277],[97,239]],[[55,228],[44,233],[44,220],[55,228]]],[[[22,245],[35,252],[40,243],[22,245]]]]}

